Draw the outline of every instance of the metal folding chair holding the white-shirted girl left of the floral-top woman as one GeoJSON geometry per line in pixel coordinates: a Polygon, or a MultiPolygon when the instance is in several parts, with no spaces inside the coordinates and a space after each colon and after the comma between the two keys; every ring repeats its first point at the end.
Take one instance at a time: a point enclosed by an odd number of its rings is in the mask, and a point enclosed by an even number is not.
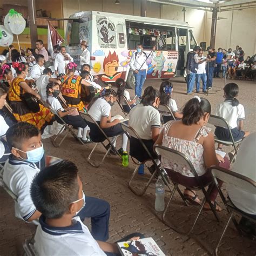
{"type": "Polygon", "coordinates": [[[128,187],[130,188],[130,190],[131,190],[134,194],[136,194],[137,196],[142,196],[142,195],[146,192],[146,190],[147,190],[147,188],[149,187],[149,185],[150,185],[152,179],[154,178],[154,176],[155,176],[156,174],[160,174],[161,177],[163,178],[164,182],[165,182],[165,185],[166,185],[166,186],[169,188],[169,190],[171,191],[170,181],[169,181],[169,179],[168,179],[168,177],[167,177],[167,173],[165,173],[164,170],[161,170],[161,169],[160,169],[160,166],[156,163],[156,159],[154,159],[154,158],[152,157],[152,154],[149,152],[149,150],[147,149],[145,143],[144,143],[143,140],[139,137],[138,133],[137,133],[131,126],[129,126],[129,125],[127,125],[127,124],[121,123],[121,125],[122,125],[123,130],[124,130],[124,131],[126,132],[126,134],[128,135],[128,137],[131,136],[131,137],[133,137],[133,138],[137,138],[137,139],[139,140],[139,142],[142,144],[144,150],[145,150],[145,151],[147,152],[147,154],[149,155],[149,159],[145,160],[143,163],[140,163],[138,160],[134,160],[134,158],[131,157],[132,160],[133,160],[133,162],[134,162],[134,164],[136,164],[136,165],[138,165],[138,166],[137,166],[136,169],[133,171],[132,176],[131,176],[131,178],[130,178],[130,180],[129,180],[129,185],[128,185],[128,187]],[[155,166],[157,166],[157,168],[156,168],[156,170],[152,173],[152,175],[151,175],[149,181],[147,181],[147,184],[145,185],[145,187],[143,188],[143,190],[139,192],[139,191],[136,191],[136,190],[132,187],[132,181],[133,181],[134,177],[136,176],[136,174],[138,173],[139,166],[140,166],[141,164],[144,164],[144,165],[147,167],[147,169],[149,170],[149,167],[146,165],[146,162],[147,162],[147,161],[152,161],[153,164],[154,164],[155,166]]]}

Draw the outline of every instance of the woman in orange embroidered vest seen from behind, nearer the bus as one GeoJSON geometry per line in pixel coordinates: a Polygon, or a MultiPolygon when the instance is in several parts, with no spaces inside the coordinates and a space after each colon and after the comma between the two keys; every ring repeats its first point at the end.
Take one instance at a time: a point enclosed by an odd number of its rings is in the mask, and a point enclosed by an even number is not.
{"type": "Polygon", "coordinates": [[[61,78],[60,90],[69,107],[77,107],[78,111],[83,111],[85,104],[81,99],[81,94],[85,90],[82,86],[90,86],[82,77],[74,75],[77,64],[70,62],[66,65],[66,75],[61,78]]]}

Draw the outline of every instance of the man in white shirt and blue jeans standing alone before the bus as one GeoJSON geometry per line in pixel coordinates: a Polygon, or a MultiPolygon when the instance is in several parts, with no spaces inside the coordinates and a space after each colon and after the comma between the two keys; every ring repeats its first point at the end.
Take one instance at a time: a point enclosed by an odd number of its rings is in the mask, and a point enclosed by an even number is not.
{"type": "MultiPolygon", "coordinates": [[[[156,46],[153,46],[153,52],[156,50],[156,46]]],[[[142,88],[147,75],[147,55],[143,51],[143,45],[137,45],[137,51],[133,53],[130,60],[130,68],[133,71],[135,77],[135,95],[142,96],[142,88]]]]}

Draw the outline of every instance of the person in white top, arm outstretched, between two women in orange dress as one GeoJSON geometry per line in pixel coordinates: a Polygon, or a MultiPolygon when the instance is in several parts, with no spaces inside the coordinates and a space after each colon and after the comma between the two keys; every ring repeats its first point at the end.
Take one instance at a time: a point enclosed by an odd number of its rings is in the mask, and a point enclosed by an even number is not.
{"type": "Polygon", "coordinates": [[[36,87],[38,89],[38,94],[41,96],[41,99],[46,102],[47,96],[46,96],[46,86],[49,84],[49,82],[55,82],[59,85],[61,84],[60,80],[56,78],[52,78],[52,71],[50,68],[46,68],[43,71],[43,75],[39,76],[36,80],[36,87]]]}

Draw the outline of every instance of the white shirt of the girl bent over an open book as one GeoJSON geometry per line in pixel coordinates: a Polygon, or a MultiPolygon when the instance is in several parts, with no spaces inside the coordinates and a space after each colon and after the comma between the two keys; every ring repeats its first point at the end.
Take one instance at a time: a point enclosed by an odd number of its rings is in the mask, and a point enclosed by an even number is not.
{"type": "Polygon", "coordinates": [[[105,98],[99,97],[90,107],[88,113],[92,116],[95,121],[100,122],[102,117],[109,117],[111,111],[111,106],[105,98]]]}

